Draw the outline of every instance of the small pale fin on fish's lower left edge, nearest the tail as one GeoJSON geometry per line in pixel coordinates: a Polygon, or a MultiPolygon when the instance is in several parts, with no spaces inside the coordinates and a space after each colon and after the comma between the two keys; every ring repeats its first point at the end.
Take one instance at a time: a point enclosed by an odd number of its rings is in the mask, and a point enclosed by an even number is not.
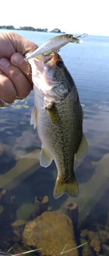
{"type": "Polygon", "coordinates": [[[41,150],[41,153],[40,153],[40,165],[43,166],[43,167],[47,167],[51,163],[52,163],[51,156],[48,154],[48,152],[42,146],[42,150],[41,150]]]}

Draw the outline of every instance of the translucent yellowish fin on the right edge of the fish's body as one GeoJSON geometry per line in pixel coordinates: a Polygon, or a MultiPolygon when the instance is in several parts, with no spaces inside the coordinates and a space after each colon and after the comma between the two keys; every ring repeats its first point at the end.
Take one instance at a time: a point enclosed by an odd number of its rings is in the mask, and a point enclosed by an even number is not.
{"type": "Polygon", "coordinates": [[[78,150],[75,154],[75,157],[77,159],[77,161],[81,161],[84,157],[86,157],[88,153],[88,142],[85,138],[85,135],[83,134],[82,135],[82,138],[81,138],[81,142],[80,142],[80,145],[78,147],[78,150]]]}

